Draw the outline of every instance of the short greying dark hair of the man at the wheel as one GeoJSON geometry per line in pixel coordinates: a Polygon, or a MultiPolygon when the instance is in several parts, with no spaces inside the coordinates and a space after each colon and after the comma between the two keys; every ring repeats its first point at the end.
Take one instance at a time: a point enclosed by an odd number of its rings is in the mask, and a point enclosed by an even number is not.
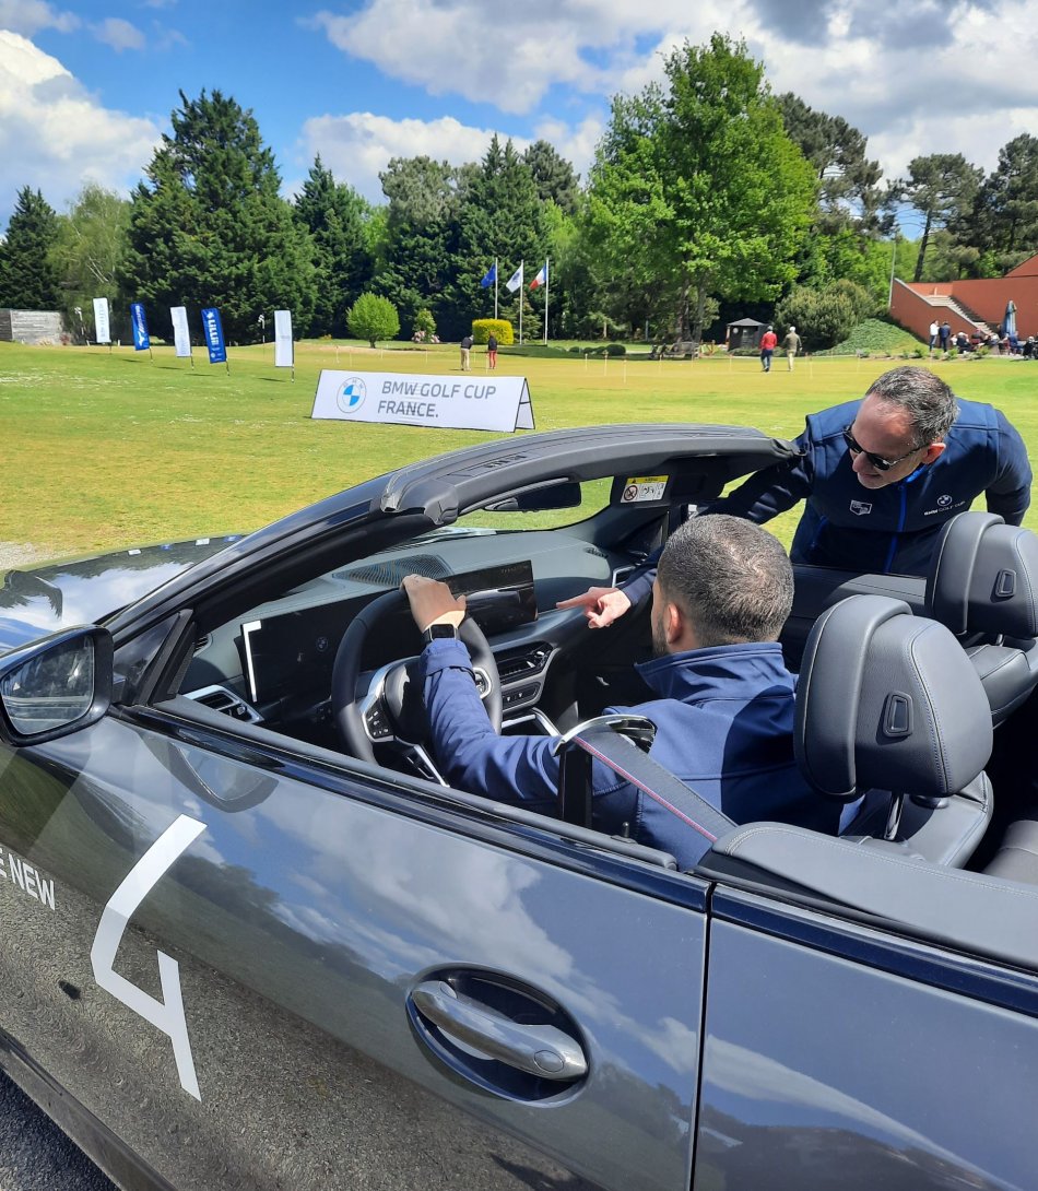
{"type": "Polygon", "coordinates": [[[773,534],[742,517],[693,517],[670,535],[656,575],[702,646],[775,641],[793,606],[793,567],[773,534]]]}

